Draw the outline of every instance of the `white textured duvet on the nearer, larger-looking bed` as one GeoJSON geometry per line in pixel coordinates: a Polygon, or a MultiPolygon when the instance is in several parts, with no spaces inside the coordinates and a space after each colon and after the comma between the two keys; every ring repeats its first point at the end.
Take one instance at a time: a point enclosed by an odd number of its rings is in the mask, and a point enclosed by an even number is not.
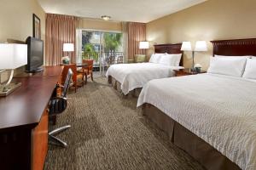
{"type": "Polygon", "coordinates": [[[246,170],[256,169],[256,82],[201,74],[148,82],[137,106],[156,106],[246,170]]]}

